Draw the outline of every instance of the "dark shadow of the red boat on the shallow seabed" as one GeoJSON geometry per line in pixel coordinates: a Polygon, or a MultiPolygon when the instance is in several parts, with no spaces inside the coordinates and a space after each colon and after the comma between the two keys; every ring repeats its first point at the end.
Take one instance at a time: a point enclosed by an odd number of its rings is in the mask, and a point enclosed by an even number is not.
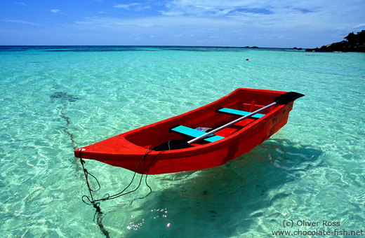
{"type": "Polygon", "coordinates": [[[313,146],[268,139],[219,167],[149,176],[152,194],[133,206],[108,209],[103,223],[110,230],[117,226],[117,236],[124,237],[232,237],[247,232],[260,216],[278,223],[280,212],[263,209],[292,194],[282,186],[326,166],[321,154],[313,146]],[[133,214],[128,221],[119,217],[126,212],[133,214]]]}

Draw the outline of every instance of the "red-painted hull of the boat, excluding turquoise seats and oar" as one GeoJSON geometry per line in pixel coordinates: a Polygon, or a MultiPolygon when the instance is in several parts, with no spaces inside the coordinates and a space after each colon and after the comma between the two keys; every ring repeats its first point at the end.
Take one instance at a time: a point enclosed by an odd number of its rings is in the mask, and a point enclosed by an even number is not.
{"type": "MultiPolygon", "coordinates": [[[[229,107],[244,111],[255,111],[271,104],[274,97],[283,93],[270,90],[237,89],[222,99],[199,109],[85,146],[83,147],[85,150],[81,151],[81,157],[124,167],[134,172],[148,147],[157,146],[171,139],[184,138],[170,132],[170,128],[176,125],[215,128],[237,118],[236,116],[217,113],[217,109],[229,107]]],[[[209,144],[194,144],[189,148],[162,151],[161,153],[151,151],[145,157],[145,171],[143,171],[141,165],[137,172],[140,174],[146,173],[147,167],[156,156],[157,158],[150,165],[149,174],[183,172],[223,165],[227,161],[251,151],[255,146],[277,132],[286,124],[289,111],[292,108],[293,102],[273,106],[271,109],[267,109],[264,112],[265,116],[258,120],[245,119],[244,122],[237,123],[237,125],[234,125],[236,131],[233,134],[225,135],[225,139],[219,141],[209,144]]],[[[220,133],[224,134],[225,132],[217,132],[216,134],[219,135],[220,133]]],[[[79,149],[75,150],[74,154],[77,158],[80,158],[79,149]]]]}

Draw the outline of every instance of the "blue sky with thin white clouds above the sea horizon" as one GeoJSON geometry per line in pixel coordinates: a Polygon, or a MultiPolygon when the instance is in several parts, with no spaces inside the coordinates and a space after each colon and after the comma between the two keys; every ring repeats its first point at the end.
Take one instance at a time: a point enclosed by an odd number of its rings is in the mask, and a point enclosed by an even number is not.
{"type": "Polygon", "coordinates": [[[1,0],[0,45],[315,48],[365,29],[365,0],[1,0]]]}

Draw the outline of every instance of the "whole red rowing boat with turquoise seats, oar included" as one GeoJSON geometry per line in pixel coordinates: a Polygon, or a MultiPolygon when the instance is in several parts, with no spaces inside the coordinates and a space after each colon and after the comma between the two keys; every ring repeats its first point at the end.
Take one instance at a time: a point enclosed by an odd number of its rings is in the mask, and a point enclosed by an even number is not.
{"type": "Polygon", "coordinates": [[[239,88],[198,109],[78,148],[74,155],[140,174],[147,170],[148,174],[166,174],[223,165],[283,127],[293,101],[303,96],[239,88]],[[284,103],[275,101],[283,95],[284,103]],[[215,132],[215,128],[219,130],[215,132]],[[201,139],[194,141],[196,137],[201,139]],[[170,146],[169,141],[182,141],[182,146],[170,146]],[[140,166],[142,160],[148,169],[140,166]]]}

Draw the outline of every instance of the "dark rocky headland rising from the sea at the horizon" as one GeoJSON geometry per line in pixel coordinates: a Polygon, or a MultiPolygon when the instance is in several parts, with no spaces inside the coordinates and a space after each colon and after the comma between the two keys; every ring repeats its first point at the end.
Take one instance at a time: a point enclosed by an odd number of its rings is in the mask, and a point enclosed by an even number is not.
{"type": "Polygon", "coordinates": [[[365,52],[365,30],[361,32],[351,32],[345,37],[345,41],[331,43],[329,45],[323,45],[321,48],[306,49],[305,51],[316,52],[365,52]]]}

